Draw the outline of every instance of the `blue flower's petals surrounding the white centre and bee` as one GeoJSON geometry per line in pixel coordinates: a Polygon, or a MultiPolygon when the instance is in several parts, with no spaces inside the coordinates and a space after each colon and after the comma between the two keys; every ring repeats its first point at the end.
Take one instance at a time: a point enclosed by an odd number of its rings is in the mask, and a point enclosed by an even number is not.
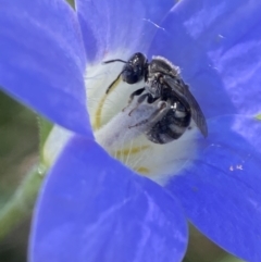
{"type": "Polygon", "coordinates": [[[261,3],[183,0],[165,16],[171,8],[78,0],[75,14],[62,0],[1,4],[0,86],[74,132],[41,189],[30,261],[181,261],[186,220],[260,260],[261,3]],[[89,124],[86,65],[136,51],[181,66],[208,120],[209,137],[191,140],[197,153],[164,186],[109,157],[89,124]]]}

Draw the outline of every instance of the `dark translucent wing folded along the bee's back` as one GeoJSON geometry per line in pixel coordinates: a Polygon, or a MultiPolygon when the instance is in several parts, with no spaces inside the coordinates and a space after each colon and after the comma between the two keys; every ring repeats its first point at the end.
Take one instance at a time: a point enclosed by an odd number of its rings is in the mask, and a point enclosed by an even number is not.
{"type": "Polygon", "coordinates": [[[179,78],[177,82],[172,76],[164,76],[165,84],[172,88],[172,91],[175,93],[177,99],[191,111],[192,120],[195,121],[196,125],[202,133],[204,137],[208,136],[208,126],[203,115],[202,110],[200,109],[197,100],[189,91],[188,86],[179,78]]]}

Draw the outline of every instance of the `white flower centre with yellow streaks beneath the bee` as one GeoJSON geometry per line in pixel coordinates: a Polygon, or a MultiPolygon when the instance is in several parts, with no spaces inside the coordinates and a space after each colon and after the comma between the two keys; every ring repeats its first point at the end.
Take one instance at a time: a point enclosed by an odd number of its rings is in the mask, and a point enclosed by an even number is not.
{"type": "MultiPolygon", "coordinates": [[[[104,58],[128,60],[132,53],[115,53],[104,58]]],[[[150,128],[146,120],[159,110],[159,104],[147,101],[137,104],[137,97],[128,104],[129,96],[145,83],[129,85],[121,77],[112,86],[123,68],[123,63],[89,65],[85,83],[88,112],[97,141],[115,159],[138,174],[163,185],[181,171],[196,154],[198,128],[187,129],[181,138],[164,145],[154,144],[145,136],[150,128]]]]}

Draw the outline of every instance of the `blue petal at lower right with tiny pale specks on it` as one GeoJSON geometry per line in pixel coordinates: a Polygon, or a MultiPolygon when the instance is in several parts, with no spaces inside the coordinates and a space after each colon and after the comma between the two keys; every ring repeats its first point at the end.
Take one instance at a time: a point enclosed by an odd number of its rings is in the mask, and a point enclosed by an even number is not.
{"type": "Polygon", "coordinates": [[[200,154],[167,185],[188,219],[235,255],[261,258],[261,122],[222,116],[209,122],[200,154]]]}

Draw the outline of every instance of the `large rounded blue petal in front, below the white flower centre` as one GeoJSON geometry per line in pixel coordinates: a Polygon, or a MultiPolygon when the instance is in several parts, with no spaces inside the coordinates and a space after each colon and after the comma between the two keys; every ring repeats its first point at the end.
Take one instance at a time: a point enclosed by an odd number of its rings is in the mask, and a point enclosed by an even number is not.
{"type": "Polygon", "coordinates": [[[181,261],[187,225],[160,186],[74,138],[37,204],[30,261],[181,261]]]}

